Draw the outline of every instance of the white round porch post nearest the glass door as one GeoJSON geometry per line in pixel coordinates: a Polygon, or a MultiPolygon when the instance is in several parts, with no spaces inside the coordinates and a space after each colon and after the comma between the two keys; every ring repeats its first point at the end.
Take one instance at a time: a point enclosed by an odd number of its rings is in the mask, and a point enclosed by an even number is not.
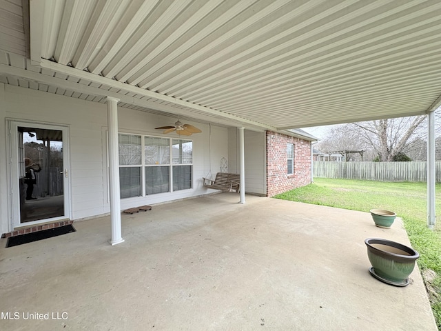
{"type": "Polygon", "coordinates": [[[109,185],[110,218],[112,219],[112,239],[110,244],[122,243],[121,205],[119,195],[119,156],[118,156],[118,101],[107,97],[107,126],[109,129],[109,185]]]}

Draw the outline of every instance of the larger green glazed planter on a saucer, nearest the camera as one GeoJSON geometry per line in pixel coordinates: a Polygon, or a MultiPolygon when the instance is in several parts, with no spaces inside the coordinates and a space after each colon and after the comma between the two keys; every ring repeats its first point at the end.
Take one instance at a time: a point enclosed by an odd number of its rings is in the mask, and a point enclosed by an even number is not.
{"type": "Polygon", "coordinates": [[[380,238],[365,240],[367,257],[372,268],[369,269],[373,277],[384,283],[397,286],[409,284],[409,275],[415,268],[415,262],[420,254],[413,248],[380,238]]]}

